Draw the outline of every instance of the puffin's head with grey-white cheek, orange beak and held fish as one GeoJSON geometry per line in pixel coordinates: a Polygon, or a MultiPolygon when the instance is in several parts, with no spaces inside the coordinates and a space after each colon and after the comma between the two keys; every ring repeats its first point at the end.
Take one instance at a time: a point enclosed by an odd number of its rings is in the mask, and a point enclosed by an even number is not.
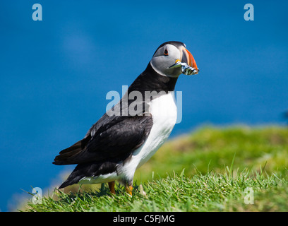
{"type": "Polygon", "coordinates": [[[198,73],[196,61],[182,42],[164,42],[158,47],[150,64],[162,76],[178,77],[181,73],[198,73]]]}

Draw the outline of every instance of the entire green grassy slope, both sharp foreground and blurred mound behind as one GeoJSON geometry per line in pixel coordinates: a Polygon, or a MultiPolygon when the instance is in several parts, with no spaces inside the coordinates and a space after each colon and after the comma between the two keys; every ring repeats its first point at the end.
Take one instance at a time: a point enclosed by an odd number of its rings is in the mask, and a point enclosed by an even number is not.
{"type": "Polygon", "coordinates": [[[287,128],[203,127],[167,142],[138,169],[133,197],[122,187],[116,196],[107,187],[57,191],[26,210],[287,211],[287,156],[287,128]],[[246,188],[254,191],[253,205],[244,202],[246,188]]]}

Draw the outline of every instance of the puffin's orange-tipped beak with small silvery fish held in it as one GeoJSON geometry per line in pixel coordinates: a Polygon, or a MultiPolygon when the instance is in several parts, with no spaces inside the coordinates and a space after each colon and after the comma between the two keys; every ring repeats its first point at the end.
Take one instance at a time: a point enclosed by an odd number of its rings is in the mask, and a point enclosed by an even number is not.
{"type": "Polygon", "coordinates": [[[186,49],[185,47],[182,47],[181,50],[181,59],[176,59],[175,64],[173,64],[169,68],[177,68],[186,65],[192,70],[193,75],[198,74],[199,69],[191,52],[189,52],[188,49],[186,49]]]}

